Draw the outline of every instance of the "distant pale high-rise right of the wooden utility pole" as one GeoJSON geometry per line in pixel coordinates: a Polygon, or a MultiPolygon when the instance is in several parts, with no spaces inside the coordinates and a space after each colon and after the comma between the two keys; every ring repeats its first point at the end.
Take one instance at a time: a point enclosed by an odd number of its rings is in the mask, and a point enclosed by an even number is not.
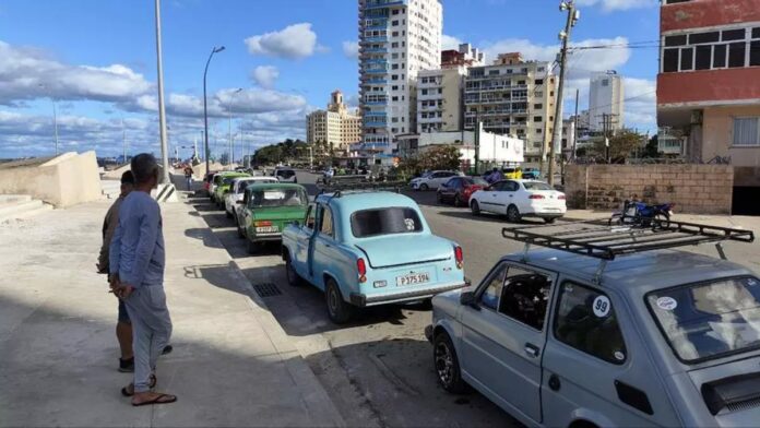
{"type": "Polygon", "coordinates": [[[591,75],[589,87],[589,119],[592,131],[618,131],[624,126],[622,78],[616,71],[591,75]]]}

